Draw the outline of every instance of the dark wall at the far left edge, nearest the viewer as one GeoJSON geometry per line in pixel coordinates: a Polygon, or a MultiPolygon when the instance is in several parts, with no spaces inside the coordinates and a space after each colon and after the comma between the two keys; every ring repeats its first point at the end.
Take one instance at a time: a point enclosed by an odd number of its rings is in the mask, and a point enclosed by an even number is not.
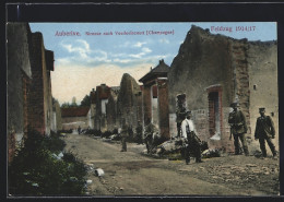
{"type": "Polygon", "coordinates": [[[32,79],[27,23],[7,24],[8,154],[9,162],[27,130],[28,84],[32,79]]]}

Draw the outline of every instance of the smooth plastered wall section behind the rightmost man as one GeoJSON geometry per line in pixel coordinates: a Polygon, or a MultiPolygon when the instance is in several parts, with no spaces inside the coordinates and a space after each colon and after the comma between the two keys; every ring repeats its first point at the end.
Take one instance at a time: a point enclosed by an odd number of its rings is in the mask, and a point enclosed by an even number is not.
{"type": "MultiPolygon", "coordinates": [[[[248,46],[248,71],[250,91],[250,128],[251,148],[259,150],[258,141],[253,141],[256,122],[259,107],[265,107],[275,127],[275,139],[273,140],[279,150],[279,86],[277,86],[277,45],[275,41],[250,43],[248,46]]],[[[270,150],[268,150],[270,153],[270,150]]]]}

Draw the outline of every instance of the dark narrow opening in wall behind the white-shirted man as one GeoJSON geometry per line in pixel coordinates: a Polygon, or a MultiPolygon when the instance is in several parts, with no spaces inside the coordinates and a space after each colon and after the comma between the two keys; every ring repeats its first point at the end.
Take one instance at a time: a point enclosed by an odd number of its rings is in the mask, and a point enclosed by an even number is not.
{"type": "Polygon", "coordinates": [[[177,136],[181,136],[180,131],[181,131],[181,122],[184,121],[184,119],[186,118],[186,112],[187,109],[185,107],[185,99],[186,99],[186,94],[181,94],[181,95],[177,95],[177,109],[176,109],[176,116],[177,116],[177,136]]]}

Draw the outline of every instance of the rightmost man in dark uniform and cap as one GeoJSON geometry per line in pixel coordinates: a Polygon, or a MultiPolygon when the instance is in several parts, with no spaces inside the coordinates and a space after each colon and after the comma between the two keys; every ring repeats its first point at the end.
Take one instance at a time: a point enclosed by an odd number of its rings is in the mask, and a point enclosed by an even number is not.
{"type": "Polygon", "coordinates": [[[269,147],[273,154],[273,157],[276,156],[275,146],[272,143],[271,139],[275,138],[274,123],[270,116],[265,116],[265,108],[259,108],[260,117],[257,119],[257,126],[255,131],[255,139],[259,139],[260,150],[262,156],[267,157],[265,140],[269,144],[269,147]]]}

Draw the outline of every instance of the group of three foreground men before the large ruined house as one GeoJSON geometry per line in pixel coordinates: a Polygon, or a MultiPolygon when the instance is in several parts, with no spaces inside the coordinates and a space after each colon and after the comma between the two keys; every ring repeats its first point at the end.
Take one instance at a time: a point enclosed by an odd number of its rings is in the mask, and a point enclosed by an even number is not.
{"type": "MultiPolygon", "coordinates": [[[[229,112],[228,116],[228,124],[230,126],[230,136],[234,136],[234,146],[235,146],[235,155],[240,154],[240,144],[242,144],[242,150],[246,156],[249,156],[249,150],[246,139],[246,133],[248,131],[246,118],[242,111],[239,109],[238,103],[230,104],[233,111],[229,112]]],[[[260,150],[262,153],[262,157],[267,157],[267,148],[265,141],[270,146],[270,150],[273,154],[273,157],[276,156],[276,150],[272,142],[272,139],[275,138],[275,129],[272,118],[265,115],[265,108],[259,108],[260,117],[257,119],[256,130],[255,130],[255,140],[259,140],[260,150]]],[[[194,132],[194,124],[192,122],[191,111],[186,111],[186,109],[180,107],[177,110],[177,129],[178,136],[187,139],[187,147],[186,147],[186,163],[190,162],[190,151],[193,151],[193,156],[196,157],[197,163],[201,163],[201,152],[200,152],[200,140],[194,132]],[[184,116],[184,118],[182,118],[184,116]]]]}

